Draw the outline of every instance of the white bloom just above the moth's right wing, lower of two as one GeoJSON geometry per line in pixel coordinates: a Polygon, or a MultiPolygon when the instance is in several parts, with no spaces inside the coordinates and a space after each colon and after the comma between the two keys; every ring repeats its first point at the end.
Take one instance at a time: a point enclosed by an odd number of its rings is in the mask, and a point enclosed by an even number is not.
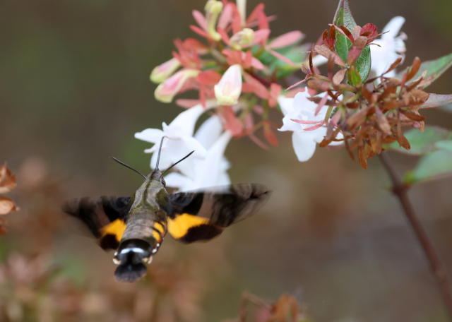
{"type": "Polygon", "coordinates": [[[203,160],[194,160],[191,168],[181,169],[177,165],[180,173],[168,174],[165,177],[167,186],[177,188],[179,191],[187,191],[206,186],[230,184],[230,177],[227,174],[230,165],[224,153],[232,134],[225,131],[220,135],[221,131],[222,127],[218,117],[210,117],[201,125],[196,131],[195,137],[208,149],[206,157],[203,160]]]}

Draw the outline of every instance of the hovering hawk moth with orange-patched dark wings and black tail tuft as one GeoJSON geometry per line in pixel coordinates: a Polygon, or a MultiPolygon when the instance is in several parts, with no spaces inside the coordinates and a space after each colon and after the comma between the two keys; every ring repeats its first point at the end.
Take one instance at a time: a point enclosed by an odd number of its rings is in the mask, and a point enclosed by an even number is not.
{"type": "MultiPolygon", "coordinates": [[[[225,227],[259,210],[271,191],[262,184],[231,184],[169,194],[157,165],[131,197],[85,197],[66,201],[62,210],[77,217],[100,241],[102,249],[116,250],[113,262],[119,282],[135,282],[146,273],[167,232],[185,244],[207,241],[225,227]]],[[[192,152],[193,153],[193,152],[192,152]]]]}

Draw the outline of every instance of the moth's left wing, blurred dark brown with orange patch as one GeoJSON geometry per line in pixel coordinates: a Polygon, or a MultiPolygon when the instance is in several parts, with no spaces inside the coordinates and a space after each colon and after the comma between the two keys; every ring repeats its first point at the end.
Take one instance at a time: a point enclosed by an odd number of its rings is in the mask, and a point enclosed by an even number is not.
{"type": "Polygon", "coordinates": [[[130,210],[129,197],[85,197],[66,201],[61,210],[81,220],[96,238],[102,249],[117,249],[130,210]]]}

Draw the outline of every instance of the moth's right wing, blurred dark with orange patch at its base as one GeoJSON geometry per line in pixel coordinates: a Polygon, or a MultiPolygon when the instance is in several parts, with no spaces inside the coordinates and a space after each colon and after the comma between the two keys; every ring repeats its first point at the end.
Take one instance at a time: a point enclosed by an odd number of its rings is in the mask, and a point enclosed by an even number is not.
{"type": "Polygon", "coordinates": [[[169,195],[168,232],[185,243],[208,240],[258,211],[270,198],[262,184],[232,184],[169,195]]]}

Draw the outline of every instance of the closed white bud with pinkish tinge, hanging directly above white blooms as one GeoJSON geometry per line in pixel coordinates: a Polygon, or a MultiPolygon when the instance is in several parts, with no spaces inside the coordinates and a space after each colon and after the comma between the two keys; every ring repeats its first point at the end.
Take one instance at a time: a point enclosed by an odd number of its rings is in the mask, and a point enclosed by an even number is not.
{"type": "Polygon", "coordinates": [[[235,64],[227,68],[220,82],[214,87],[218,105],[235,105],[242,93],[242,67],[235,64]]]}

